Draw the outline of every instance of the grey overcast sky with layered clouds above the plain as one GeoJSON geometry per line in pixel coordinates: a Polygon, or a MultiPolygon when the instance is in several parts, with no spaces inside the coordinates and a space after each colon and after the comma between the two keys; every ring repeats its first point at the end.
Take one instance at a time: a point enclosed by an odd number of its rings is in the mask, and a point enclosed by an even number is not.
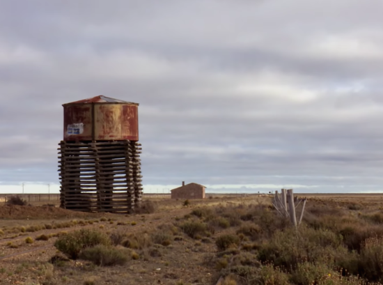
{"type": "Polygon", "coordinates": [[[61,105],[101,94],[140,104],[145,187],[380,191],[382,11],[1,0],[0,191],[57,184],[61,105]]]}

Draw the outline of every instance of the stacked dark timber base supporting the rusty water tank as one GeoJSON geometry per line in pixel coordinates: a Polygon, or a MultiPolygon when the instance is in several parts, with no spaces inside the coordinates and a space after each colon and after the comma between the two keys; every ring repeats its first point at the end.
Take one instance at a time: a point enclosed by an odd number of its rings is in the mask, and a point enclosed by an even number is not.
{"type": "Polygon", "coordinates": [[[61,207],[129,213],[142,196],[141,144],[136,141],[65,142],[61,154],[61,207]]]}

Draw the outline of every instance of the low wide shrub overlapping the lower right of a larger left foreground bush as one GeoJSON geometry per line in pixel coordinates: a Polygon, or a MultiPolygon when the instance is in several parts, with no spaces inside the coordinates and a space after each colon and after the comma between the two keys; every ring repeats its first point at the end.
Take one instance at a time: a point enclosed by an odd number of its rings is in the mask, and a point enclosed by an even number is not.
{"type": "Polygon", "coordinates": [[[130,251],[106,245],[96,245],[81,251],[80,258],[91,261],[95,265],[111,266],[124,265],[129,260],[130,251]]]}

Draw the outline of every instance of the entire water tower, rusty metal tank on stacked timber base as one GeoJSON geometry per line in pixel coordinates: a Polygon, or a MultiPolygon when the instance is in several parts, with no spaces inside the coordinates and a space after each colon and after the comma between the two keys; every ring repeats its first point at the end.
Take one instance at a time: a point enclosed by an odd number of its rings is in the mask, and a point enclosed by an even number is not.
{"type": "Polygon", "coordinates": [[[142,197],[137,103],[103,95],[64,108],[61,207],[129,213],[142,197]]]}

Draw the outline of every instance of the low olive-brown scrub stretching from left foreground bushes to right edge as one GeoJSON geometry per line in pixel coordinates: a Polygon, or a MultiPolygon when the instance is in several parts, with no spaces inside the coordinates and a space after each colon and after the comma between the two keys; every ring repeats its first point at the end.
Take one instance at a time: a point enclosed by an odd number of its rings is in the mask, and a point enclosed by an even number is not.
{"type": "Polygon", "coordinates": [[[295,229],[268,205],[191,207],[189,215],[150,231],[130,232],[123,224],[108,234],[81,229],[59,235],[55,246],[100,266],[165,260],[183,246],[188,254],[205,250],[204,265],[222,284],[383,284],[380,210],[308,201],[295,229]]]}

